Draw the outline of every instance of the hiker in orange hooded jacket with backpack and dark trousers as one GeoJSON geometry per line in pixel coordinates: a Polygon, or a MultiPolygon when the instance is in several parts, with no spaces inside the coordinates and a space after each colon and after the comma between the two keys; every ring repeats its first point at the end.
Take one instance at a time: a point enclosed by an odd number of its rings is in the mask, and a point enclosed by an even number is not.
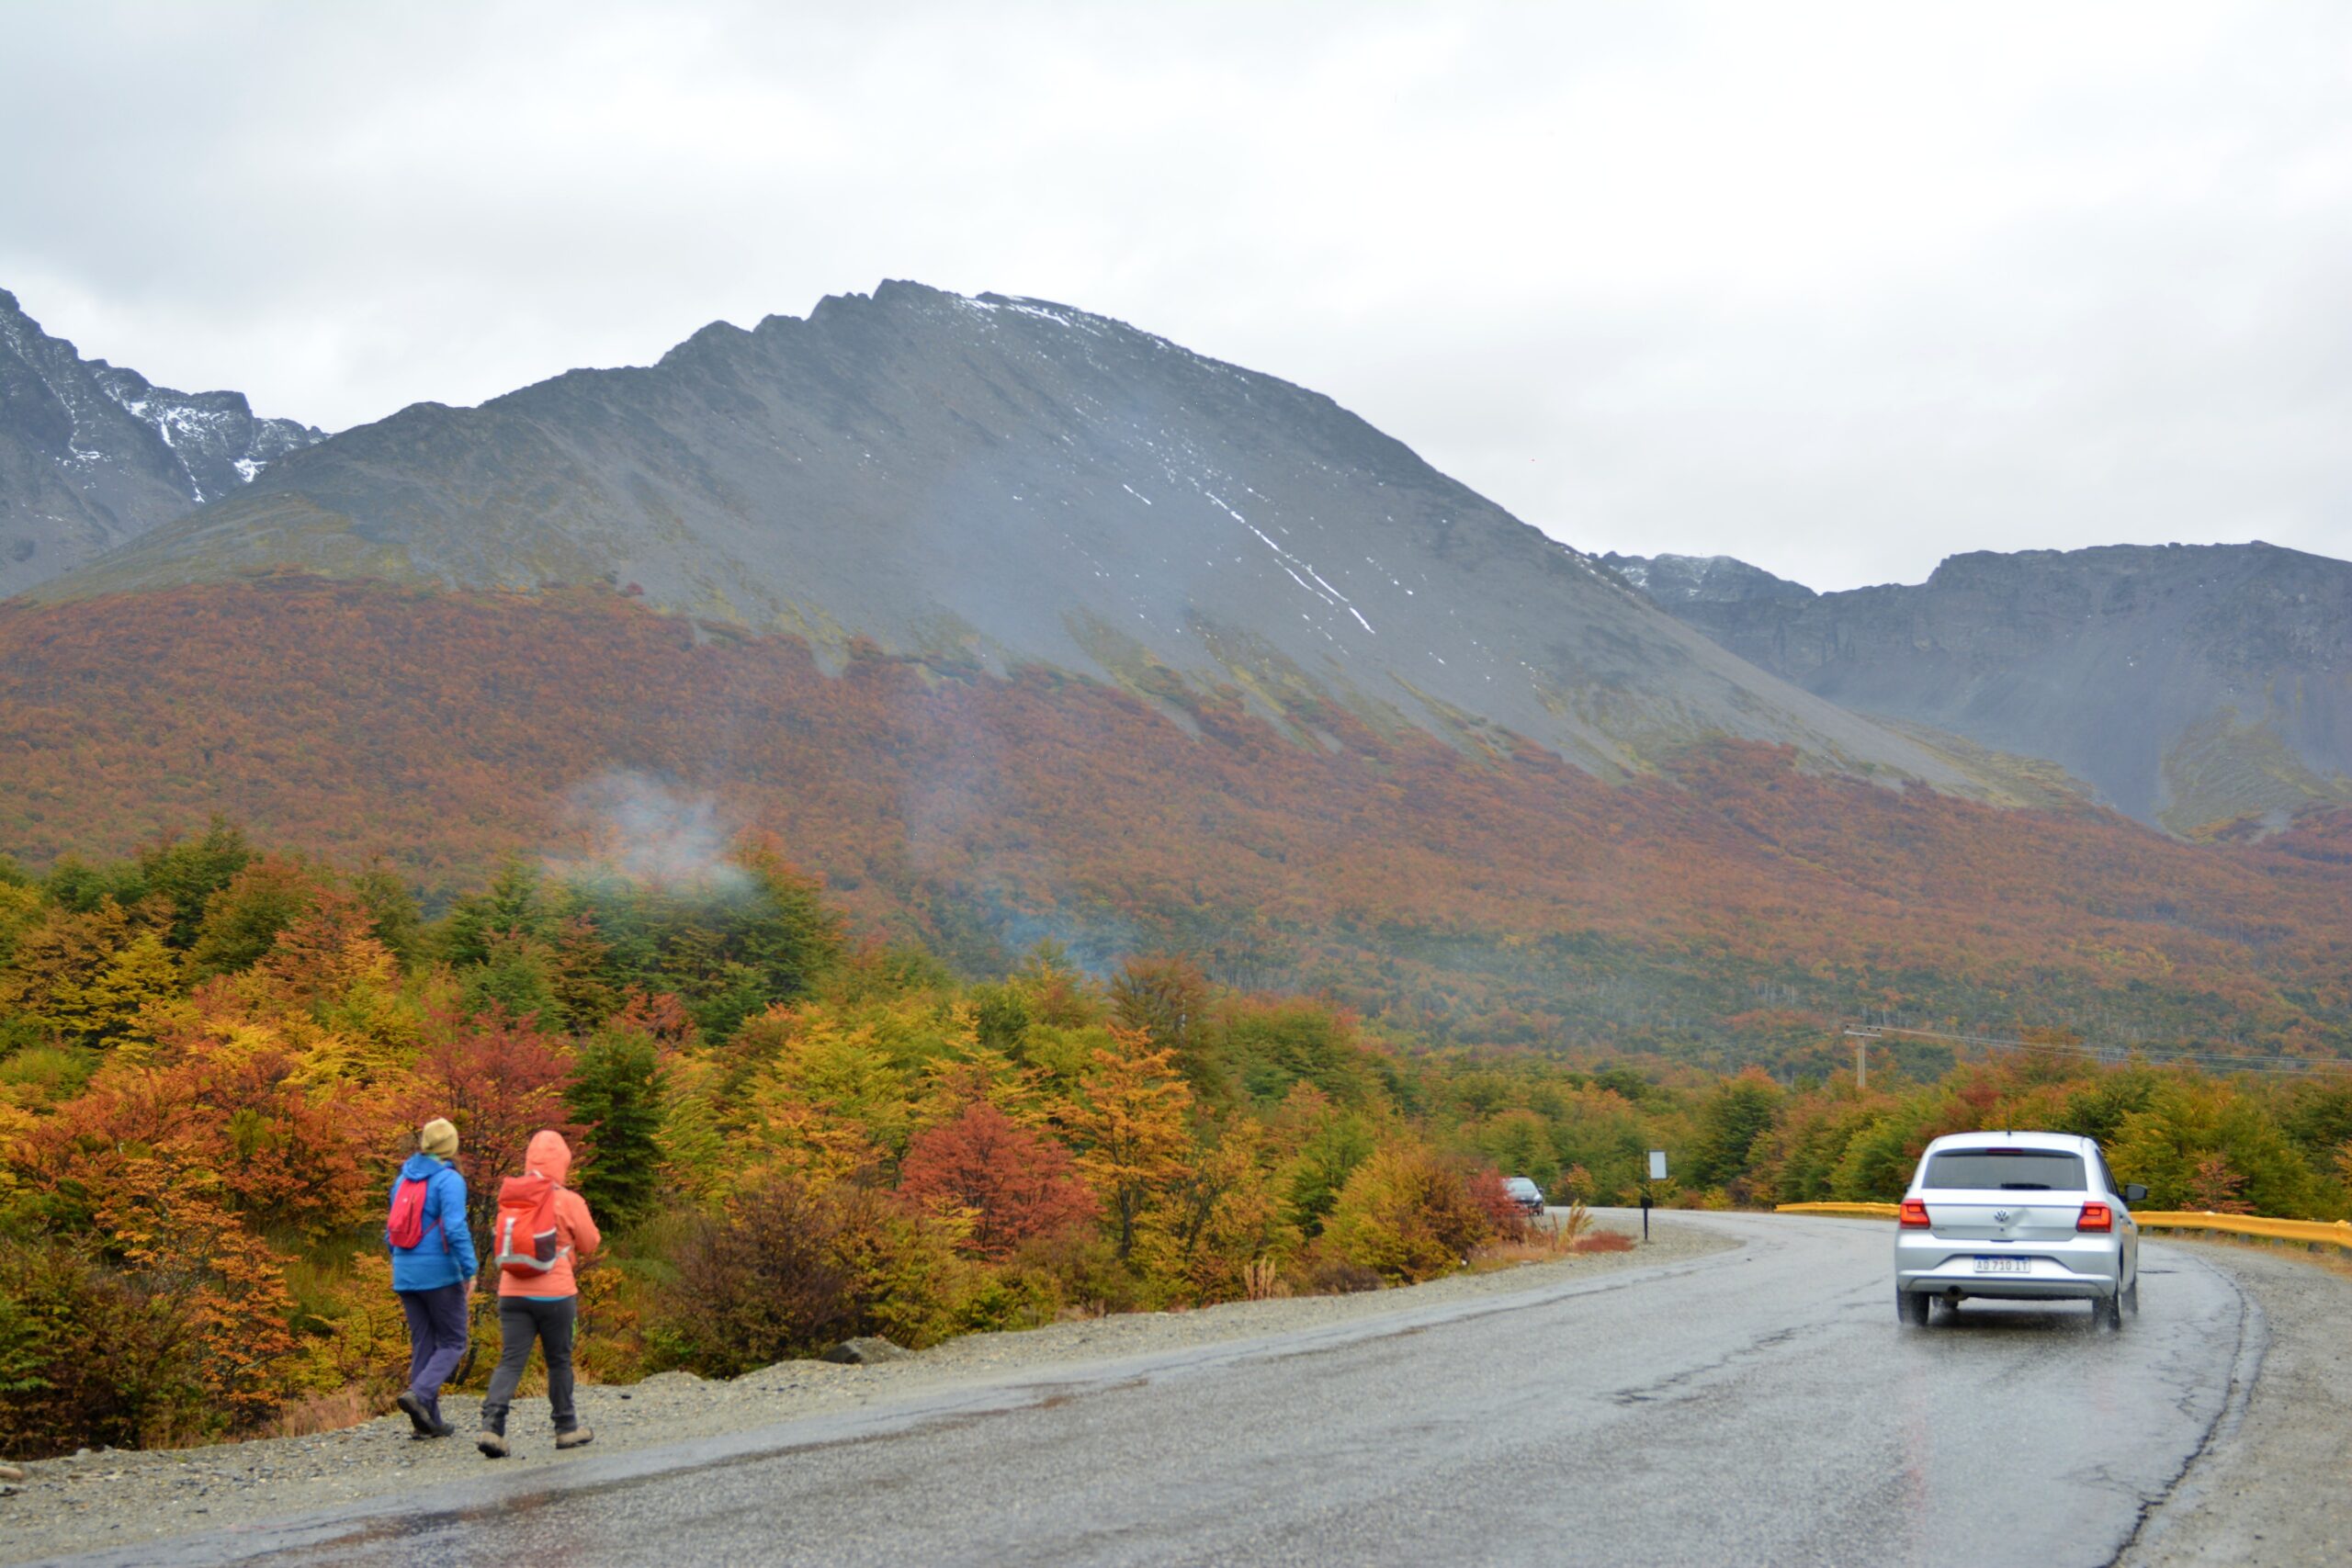
{"type": "Polygon", "coordinates": [[[579,1284],[574,1258],[590,1258],[604,1237],[595,1229],[588,1201],[564,1187],[572,1173],[572,1145],[562,1133],[532,1133],[522,1157],[522,1175],[499,1187],[499,1218],[492,1227],[492,1262],[499,1269],[499,1371],[489,1375],[482,1399],[482,1434],[475,1448],[503,1460],[506,1408],[522,1382],[536,1340],[548,1354],[548,1408],[555,1415],[555,1446],[579,1448],[595,1432],[579,1422],[572,1408],[572,1328],[579,1319],[579,1284]]]}

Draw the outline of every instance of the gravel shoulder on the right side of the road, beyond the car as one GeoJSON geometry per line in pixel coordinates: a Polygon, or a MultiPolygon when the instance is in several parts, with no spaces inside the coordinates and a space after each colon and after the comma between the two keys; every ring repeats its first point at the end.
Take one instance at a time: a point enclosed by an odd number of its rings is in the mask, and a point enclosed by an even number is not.
{"type": "Polygon", "coordinates": [[[2352,1561],[2352,1505],[2343,1490],[2352,1474],[2345,1420],[2352,1267],[2267,1246],[2171,1237],[2166,1244],[2239,1284],[2260,1373],[2117,1561],[2124,1568],[2352,1561]]]}

